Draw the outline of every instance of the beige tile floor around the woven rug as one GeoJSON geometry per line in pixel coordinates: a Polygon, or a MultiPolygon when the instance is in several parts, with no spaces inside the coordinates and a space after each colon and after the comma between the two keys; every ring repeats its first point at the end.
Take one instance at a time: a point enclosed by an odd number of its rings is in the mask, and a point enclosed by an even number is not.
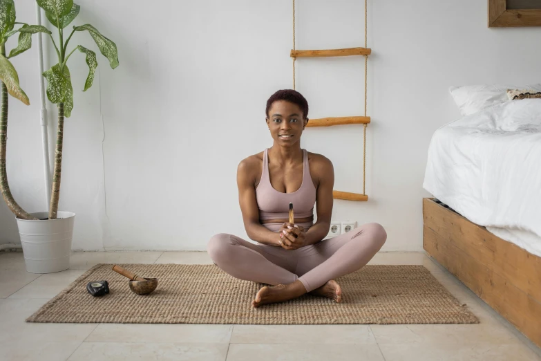
{"type": "Polygon", "coordinates": [[[24,319],[97,263],[211,263],[206,252],[74,252],[71,268],[32,275],[0,252],[0,360],[541,361],[541,351],[423,252],[374,264],[422,264],[480,324],[28,324],[24,319]]]}

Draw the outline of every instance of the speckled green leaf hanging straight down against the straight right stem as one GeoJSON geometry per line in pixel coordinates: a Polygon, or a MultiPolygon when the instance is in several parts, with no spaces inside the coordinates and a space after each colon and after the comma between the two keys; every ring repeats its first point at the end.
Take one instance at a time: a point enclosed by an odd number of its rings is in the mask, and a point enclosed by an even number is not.
{"type": "Polygon", "coordinates": [[[64,116],[69,118],[73,109],[73,88],[68,66],[64,65],[64,71],[56,64],[48,71],[44,71],[47,80],[47,98],[53,104],[64,103],[64,116]]]}

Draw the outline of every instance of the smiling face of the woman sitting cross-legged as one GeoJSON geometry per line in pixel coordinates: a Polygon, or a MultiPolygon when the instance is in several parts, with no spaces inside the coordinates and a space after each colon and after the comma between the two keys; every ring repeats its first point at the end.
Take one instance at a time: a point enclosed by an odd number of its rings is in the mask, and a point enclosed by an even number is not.
{"type": "Polygon", "coordinates": [[[297,104],[286,100],[272,103],[267,114],[267,125],[271,136],[280,145],[293,145],[301,139],[308,119],[303,120],[303,112],[297,104]]]}

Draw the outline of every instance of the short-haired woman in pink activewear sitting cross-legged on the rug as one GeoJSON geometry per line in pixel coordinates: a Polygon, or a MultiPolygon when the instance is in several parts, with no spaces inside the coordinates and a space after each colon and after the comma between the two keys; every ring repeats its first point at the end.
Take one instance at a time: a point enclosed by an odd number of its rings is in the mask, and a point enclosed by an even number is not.
{"type": "Polygon", "coordinates": [[[325,156],[301,149],[308,103],[297,91],[277,91],[267,101],[266,115],[272,147],[242,160],[237,171],[245,229],[257,244],[220,233],[210,239],[209,255],[233,277],[274,285],[258,291],[254,307],[305,293],[341,302],[334,279],[365,266],[387,234],[368,223],[322,241],[330,228],[334,170],[325,156]],[[290,203],[294,223],[288,223],[290,203]]]}

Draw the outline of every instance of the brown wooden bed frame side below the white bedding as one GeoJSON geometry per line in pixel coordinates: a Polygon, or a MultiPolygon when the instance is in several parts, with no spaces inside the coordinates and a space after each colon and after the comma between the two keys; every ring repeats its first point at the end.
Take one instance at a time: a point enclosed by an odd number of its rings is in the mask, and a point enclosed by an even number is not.
{"type": "Polygon", "coordinates": [[[541,257],[434,198],[423,199],[423,219],[426,252],[541,346],[541,257]]]}

